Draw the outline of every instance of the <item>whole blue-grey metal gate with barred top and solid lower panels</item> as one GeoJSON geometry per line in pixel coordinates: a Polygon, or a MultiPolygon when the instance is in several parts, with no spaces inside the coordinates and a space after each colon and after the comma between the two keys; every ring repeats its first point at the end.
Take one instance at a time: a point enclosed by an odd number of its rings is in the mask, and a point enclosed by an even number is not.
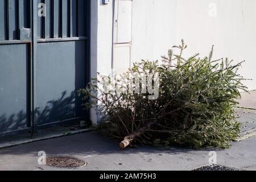
{"type": "Polygon", "coordinates": [[[0,1],[0,135],[87,117],[89,4],[0,1]]]}

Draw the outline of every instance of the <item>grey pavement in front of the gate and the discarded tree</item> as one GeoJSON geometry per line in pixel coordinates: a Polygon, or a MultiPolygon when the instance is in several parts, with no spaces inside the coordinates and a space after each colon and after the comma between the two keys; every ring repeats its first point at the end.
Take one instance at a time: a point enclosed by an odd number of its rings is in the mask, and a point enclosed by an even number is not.
{"type": "Polygon", "coordinates": [[[88,162],[88,166],[74,170],[191,170],[208,164],[210,151],[216,152],[217,163],[222,166],[256,170],[256,137],[233,142],[227,150],[139,146],[121,151],[118,141],[95,132],[3,148],[0,170],[64,170],[39,165],[39,151],[45,151],[48,156],[68,155],[88,162]]]}

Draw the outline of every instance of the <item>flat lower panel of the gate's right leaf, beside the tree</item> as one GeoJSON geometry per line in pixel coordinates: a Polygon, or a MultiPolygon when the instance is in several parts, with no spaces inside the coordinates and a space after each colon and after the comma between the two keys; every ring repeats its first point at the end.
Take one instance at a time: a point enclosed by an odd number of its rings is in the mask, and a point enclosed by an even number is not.
{"type": "Polygon", "coordinates": [[[38,44],[38,125],[82,117],[77,90],[85,87],[85,42],[38,44]]]}

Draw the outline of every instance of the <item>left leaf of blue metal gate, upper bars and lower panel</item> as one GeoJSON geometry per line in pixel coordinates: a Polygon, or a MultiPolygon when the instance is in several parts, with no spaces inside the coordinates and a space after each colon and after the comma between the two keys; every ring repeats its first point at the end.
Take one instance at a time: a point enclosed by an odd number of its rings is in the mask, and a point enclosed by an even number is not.
{"type": "Polygon", "coordinates": [[[30,43],[19,41],[19,28],[30,28],[29,7],[29,0],[0,1],[0,135],[30,127],[30,43]]]}

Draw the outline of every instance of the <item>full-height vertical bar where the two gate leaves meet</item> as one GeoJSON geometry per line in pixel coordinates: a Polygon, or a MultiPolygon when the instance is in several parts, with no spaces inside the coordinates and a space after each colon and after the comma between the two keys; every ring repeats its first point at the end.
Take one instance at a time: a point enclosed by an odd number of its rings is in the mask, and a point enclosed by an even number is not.
{"type": "Polygon", "coordinates": [[[37,1],[31,0],[31,20],[32,20],[32,56],[30,60],[30,121],[32,123],[32,132],[31,137],[33,137],[34,133],[37,131],[37,119],[36,119],[36,53],[37,53],[37,20],[38,20],[38,12],[37,12],[37,1]]]}

